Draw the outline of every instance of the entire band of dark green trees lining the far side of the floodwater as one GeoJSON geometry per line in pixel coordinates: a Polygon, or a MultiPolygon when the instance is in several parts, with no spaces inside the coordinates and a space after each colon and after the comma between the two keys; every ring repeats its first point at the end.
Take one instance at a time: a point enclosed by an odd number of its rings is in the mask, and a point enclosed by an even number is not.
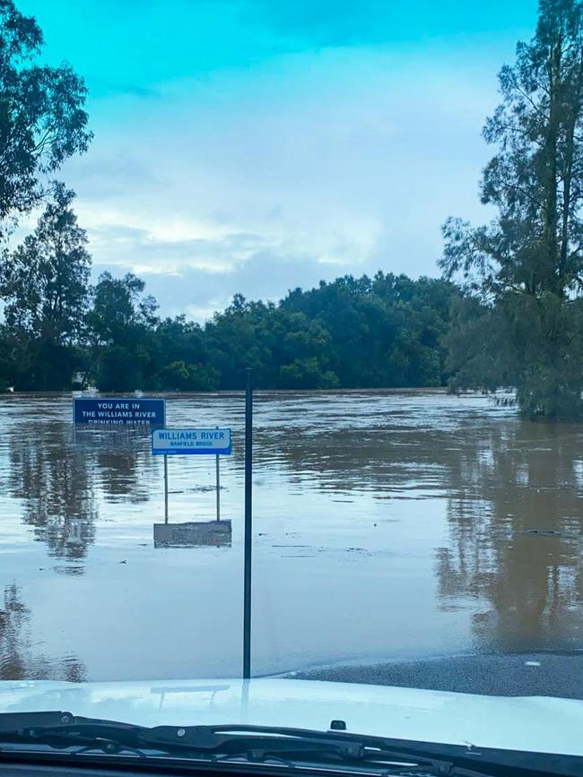
{"type": "Polygon", "coordinates": [[[131,273],[91,284],[74,192],[54,180],[91,143],[87,90],[68,65],[39,65],[42,45],[37,22],[0,0],[0,388],[76,376],[102,391],[235,389],[252,367],[264,388],[509,385],[528,418],[583,418],[581,0],[540,0],[533,39],[500,71],[480,186],[496,215],[446,222],[441,279],[236,295],[204,325],[162,318],[131,273]]]}

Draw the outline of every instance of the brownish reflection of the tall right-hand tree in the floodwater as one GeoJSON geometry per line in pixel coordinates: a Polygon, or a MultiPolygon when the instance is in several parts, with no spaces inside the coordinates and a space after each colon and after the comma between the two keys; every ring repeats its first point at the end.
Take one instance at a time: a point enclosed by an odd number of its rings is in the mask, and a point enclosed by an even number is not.
{"type": "Polygon", "coordinates": [[[443,608],[483,600],[480,643],[583,646],[581,430],[513,421],[463,438],[449,468],[450,543],[439,548],[443,608]]]}

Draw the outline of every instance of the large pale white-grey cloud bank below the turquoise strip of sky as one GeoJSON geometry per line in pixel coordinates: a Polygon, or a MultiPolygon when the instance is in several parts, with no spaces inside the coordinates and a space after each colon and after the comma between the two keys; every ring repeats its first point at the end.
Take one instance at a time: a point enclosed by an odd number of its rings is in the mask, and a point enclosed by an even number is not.
{"type": "Polygon", "coordinates": [[[496,82],[462,59],[330,50],[165,84],[163,111],[116,98],[114,120],[104,101],[65,171],[96,270],[142,274],[163,312],[196,317],[237,291],[437,274],[441,223],[484,217],[496,82]]]}

